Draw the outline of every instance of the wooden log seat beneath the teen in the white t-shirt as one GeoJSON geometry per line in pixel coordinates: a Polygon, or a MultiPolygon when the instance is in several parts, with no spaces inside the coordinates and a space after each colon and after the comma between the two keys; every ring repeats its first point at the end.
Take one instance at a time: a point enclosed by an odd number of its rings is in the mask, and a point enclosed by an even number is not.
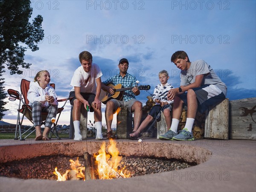
{"type": "MultiPolygon", "coordinates": [[[[73,105],[71,105],[71,113],[70,113],[70,135],[69,135],[70,139],[74,139],[75,137],[72,110],[73,110],[73,105]]],[[[82,139],[85,139],[87,137],[87,110],[84,108],[84,105],[81,106],[80,134],[82,135],[82,139]]]]}

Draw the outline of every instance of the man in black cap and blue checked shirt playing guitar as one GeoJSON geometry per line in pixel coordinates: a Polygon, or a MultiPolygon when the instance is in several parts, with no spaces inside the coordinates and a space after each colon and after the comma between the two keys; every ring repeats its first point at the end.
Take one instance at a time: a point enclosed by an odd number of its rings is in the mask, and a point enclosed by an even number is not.
{"type": "Polygon", "coordinates": [[[108,139],[116,138],[111,131],[111,124],[113,120],[113,114],[119,107],[127,107],[131,113],[134,112],[134,130],[137,130],[140,125],[140,119],[142,116],[142,103],[135,99],[135,96],[140,94],[140,90],[136,87],[136,78],[127,73],[128,67],[128,60],[126,58],[122,58],[118,64],[119,74],[102,82],[102,89],[111,93],[112,95],[115,92],[112,87],[107,86],[110,83],[113,85],[122,84],[122,87],[133,87],[132,90],[125,90],[121,100],[111,99],[107,102],[105,118],[107,123],[108,139]]]}

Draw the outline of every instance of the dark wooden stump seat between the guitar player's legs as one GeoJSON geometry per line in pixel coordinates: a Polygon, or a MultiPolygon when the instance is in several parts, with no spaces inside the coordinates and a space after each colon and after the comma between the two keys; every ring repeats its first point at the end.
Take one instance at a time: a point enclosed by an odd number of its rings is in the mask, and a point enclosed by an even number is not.
{"type": "Polygon", "coordinates": [[[116,138],[127,139],[132,132],[132,113],[127,108],[121,108],[116,115],[116,138]]]}

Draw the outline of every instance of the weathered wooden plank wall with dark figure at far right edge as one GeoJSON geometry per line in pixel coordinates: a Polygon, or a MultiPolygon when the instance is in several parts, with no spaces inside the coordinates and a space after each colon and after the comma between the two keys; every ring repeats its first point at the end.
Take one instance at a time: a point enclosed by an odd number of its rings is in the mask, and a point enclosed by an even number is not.
{"type": "Polygon", "coordinates": [[[230,101],[230,139],[256,140],[256,97],[230,101]]]}

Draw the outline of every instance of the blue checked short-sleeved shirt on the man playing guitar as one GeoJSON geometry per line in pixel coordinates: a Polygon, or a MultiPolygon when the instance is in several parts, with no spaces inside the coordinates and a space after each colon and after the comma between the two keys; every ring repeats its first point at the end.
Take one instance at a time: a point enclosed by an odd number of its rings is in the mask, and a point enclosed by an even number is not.
{"type": "MultiPolygon", "coordinates": [[[[125,87],[125,88],[126,87],[135,87],[137,85],[136,78],[134,76],[130,75],[129,73],[126,73],[126,75],[124,77],[120,76],[120,74],[117,74],[102,83],[105,85],[110,84],[110,83],[113,85],[122,84],[122,87],[125,87]]],[[[134,93],[132,92],[132,90],[126,90],[124,92],[123,100],[125,102],[127,102],[131,99],[135,99],[134,93]]]]}

